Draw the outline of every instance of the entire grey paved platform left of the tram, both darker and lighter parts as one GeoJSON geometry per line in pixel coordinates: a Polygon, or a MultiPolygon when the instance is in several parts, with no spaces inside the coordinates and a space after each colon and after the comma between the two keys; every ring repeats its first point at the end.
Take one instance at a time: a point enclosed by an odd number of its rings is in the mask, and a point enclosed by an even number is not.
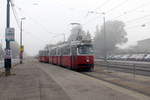
{"type": "Polygon", "coordinates": [[[0,100],[150,100],[148,96],[58,66],[26,61],[0,76],[0,100]]]}

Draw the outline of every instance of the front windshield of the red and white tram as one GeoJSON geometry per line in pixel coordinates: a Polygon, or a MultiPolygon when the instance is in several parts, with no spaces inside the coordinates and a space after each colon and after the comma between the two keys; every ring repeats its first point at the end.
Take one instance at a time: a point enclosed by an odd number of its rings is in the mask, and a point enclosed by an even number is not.
{"type": "Polygon", "coordinates": [[[93,54],[93,46],[92,45],[80,45],[78,46],[79,54],[93,54]]]}

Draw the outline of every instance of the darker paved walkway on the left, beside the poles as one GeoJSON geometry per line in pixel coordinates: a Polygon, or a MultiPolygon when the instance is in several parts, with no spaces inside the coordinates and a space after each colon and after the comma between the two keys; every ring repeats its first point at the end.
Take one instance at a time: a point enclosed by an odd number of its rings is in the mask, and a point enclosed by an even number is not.
{"type": "Polygon", "coordinates": [[[16,75],[0,77],[0,100],[70,100],[62,88],[35,62],[16,66],[16,75]]]}

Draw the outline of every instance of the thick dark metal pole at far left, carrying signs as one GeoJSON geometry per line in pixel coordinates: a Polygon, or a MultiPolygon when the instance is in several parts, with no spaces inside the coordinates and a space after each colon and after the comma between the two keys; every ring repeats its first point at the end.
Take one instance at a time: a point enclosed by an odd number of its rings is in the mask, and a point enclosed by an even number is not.
{"type": "MultiPolygon", "coordinates": [[[[10,28],[10,0],[7,0],[7,11],[6,11],[6,28],[10,28]]],[[[6,33],[5,33],[6,34],[6,33]]],[[[6,49],[5,49],[5,75],[10,75],[11,69],[11,54],[10,54],[10,41],[6,40],[6,49]],[[7,57],[6,57],[7,55],[7,57]]]]}

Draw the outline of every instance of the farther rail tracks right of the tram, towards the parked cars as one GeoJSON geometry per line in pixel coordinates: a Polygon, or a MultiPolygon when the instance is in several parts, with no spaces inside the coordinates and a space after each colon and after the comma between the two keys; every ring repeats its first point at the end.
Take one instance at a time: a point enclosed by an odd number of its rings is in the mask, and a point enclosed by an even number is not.
{"type": "Polygon", "coordinates": [[[121,72],[150,76],[150,64],[98,61],[95,62],[95,65],[121,72]]]}

